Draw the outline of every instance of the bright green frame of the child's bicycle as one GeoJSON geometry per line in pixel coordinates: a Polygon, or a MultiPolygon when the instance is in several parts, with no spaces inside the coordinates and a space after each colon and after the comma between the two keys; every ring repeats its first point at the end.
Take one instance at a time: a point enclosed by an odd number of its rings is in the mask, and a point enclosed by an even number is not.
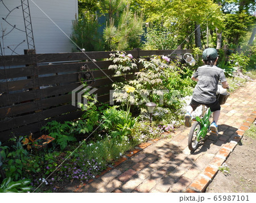
{"type": "Polygon", "coordinates": [[[197,142],[200,142],[200,140],[203,139],[205,135],[207,135],[207,132],[209,131],[210,115],[212,115],[212,111],[210,111],[210,108],[208,108],[203,118],[196,117],[196,121],[199,122],[201,126],[201,130],[196,135],[197,142]]]}

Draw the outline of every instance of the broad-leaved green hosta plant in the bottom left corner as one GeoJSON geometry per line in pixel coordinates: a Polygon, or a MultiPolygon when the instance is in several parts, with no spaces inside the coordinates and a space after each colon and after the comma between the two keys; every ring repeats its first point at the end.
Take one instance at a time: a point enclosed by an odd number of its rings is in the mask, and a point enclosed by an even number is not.
{"type": "Polygon", "coordinates": [[[30,184],[30,180],[11,181],[11,177],[7,177],[0,185],[0,193],[29,192],[32,187],[28,186],[28,184],[30,184]]]}

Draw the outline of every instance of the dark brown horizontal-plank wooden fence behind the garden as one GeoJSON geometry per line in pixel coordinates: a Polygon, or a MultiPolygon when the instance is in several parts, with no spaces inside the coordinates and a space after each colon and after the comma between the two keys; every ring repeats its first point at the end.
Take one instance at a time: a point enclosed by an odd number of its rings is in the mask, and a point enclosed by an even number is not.
{"type": "MultiPolygon", "coordinates": [[[[137,59],[170,54],[172,59],[182,59],[187,52],[192,50],[136,50],[126,53],[137,59]]],[[[110,53],[113,52],[0,56],[0,141],[5,142],[14,135],[39,135],[40,128],[48,121],[79,118],[82,113],[72,105],[71,92],[81,85],[79,72],[82,65],[86,64],[96,79],[91,86],[97,88],[94,94],[97,94],[98,101],[108,102],[112,80],[120,78],[113,76],[114,72],[108,69],[112,64],[107,60],[110,53]]]]}

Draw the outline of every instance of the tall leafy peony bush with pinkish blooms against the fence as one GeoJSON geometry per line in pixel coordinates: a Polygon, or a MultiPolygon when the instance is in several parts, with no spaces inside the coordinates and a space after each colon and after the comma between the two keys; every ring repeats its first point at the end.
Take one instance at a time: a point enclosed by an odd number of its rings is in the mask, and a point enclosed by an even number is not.
{"type": "MultiPolygon", "coordinates": [[[[113,57],[115,56],[118,60],[113,59],[115,64],[109,68],[114,69],[116,74],[117,72],[120,74],[124,65],[119,60],[119,56],[113,55],[113,57]]],[[[144,112],[146,111],[144,103],[152,101],[168,106],[170,109],[179,109],[179,98],[192,93],[190,86],[193,86],[191,80],[193,72],[188,67],[179,67],[170,62],[167,56],[152,56],[149,61],[139,59],[138,63],[142,65],[142,68],[135,73],[135,80],[124,80],[113,84],[114,90],[125,90],[130,85],[135,89],[134,93],[130,95],[125,91],[114,92],[115,101],[121,102],[121,105],[129,101],[144,112]]]]}

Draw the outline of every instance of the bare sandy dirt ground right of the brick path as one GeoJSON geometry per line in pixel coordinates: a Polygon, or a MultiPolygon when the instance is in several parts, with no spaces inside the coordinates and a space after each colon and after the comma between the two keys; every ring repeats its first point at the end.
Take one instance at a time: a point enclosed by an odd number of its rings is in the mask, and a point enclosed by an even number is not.
{"type": "Polygon", "coordinates": [[[206,192],[256,192],[256,139],[243,136],[226,160],[229,173],[218,171],[206,192]]]}

